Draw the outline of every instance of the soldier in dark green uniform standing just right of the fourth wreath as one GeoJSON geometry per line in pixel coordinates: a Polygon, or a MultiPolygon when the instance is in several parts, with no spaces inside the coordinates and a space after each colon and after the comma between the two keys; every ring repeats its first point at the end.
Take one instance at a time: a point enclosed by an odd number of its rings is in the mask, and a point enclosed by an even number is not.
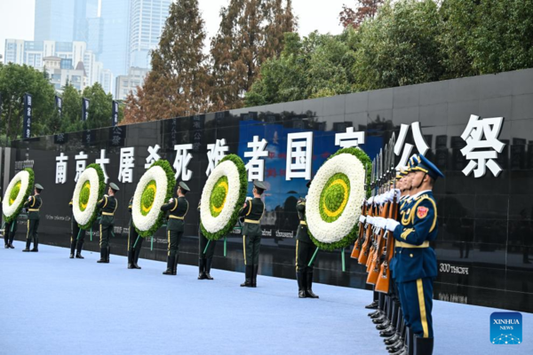
{"type": "Polygon", "coordinates": [[[241,287],[257,287],[259,269],[259,248],[261,247],[261,217],[265,212],[265,203],[261,200],[261,194],[267,190],[267,186],[260,181],[253,182],[253,199],[244,202],[240,216],[244,217],[243,225],[243,252],[244,264],[246,265],[244,283],[241,287]]]}

